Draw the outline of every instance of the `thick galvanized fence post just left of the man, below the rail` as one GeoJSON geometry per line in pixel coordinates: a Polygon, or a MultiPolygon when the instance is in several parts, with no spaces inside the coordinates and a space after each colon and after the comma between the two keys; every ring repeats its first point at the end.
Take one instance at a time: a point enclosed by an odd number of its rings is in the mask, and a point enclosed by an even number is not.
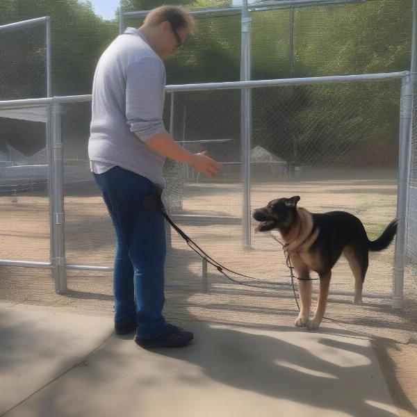
{"type": "Polygon", "coordinates": [[[63,141],[61,132],[61,105],[51,106],[51,254],[52,274],[55,280],[55,291],[67,292],[67,272],[65,261],[65,222],[63,192],[63,141]]]}

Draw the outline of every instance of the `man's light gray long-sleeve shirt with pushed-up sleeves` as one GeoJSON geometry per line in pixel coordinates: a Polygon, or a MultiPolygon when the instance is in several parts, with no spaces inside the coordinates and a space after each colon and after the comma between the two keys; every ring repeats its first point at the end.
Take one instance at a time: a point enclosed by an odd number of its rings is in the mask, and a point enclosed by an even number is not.
{"type": "Polygon", "coordinates": [[[145,142],[165,132],[165,82],[163,61],[138,29],[127,28],[104,51],[92,85],[93,172],[119,165],[164,186],[165,157],[145,142]]]}

